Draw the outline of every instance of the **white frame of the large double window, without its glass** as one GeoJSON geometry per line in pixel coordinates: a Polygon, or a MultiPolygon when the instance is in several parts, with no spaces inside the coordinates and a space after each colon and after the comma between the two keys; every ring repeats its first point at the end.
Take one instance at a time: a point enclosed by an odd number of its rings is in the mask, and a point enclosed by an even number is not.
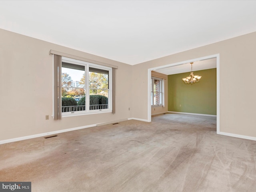
{"type": "Polygon", "coordinates": [[[76,60],[72,58],[67,58],[62,56],[62,62],[81,65],[85,67],[85,96],[86,96],[86,110],[83,111],[72,111],[72,112],[62,112],[62,117],[69,117],[69,116],[78,116],[78,115],[86,115],[86,114],[99,114],[99,113],[108,113],[112,112],[112,68],[108,66],[102,66],[99,64],[94,64],[86,61],[76,60]],[[99,109],[99,110],[90,110],[90,88],[88,83],[89,77],[89,67],[107,70],[108,74],[108,109],[99,109]],[[86,78],[87,77],[87,78],[86,78]]]}

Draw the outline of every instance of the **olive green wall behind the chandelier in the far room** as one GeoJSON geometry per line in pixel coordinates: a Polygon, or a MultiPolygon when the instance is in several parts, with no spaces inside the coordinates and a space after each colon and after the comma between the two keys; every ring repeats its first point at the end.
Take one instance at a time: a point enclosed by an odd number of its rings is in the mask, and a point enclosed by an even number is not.
{"type": "Polygon", "coordinates": [[[168,111],[216,115],[216,68],[193,71],[199,82],[185,84],[190,72],[168,75],[168,111]]]}

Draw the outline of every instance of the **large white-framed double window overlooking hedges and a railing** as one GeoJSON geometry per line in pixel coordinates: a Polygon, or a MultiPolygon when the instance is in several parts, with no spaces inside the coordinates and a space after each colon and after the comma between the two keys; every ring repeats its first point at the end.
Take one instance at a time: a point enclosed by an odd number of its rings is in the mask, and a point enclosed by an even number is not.
{"type": "Polygon", "coordinates": [[[112,68],[62,57],[62,116],[112,111],[112,68]]]}

